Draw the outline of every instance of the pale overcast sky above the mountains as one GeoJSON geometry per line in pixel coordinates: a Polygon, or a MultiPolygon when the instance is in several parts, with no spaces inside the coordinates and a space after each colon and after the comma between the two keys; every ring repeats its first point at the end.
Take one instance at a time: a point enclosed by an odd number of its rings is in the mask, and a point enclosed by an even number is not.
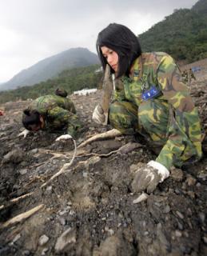
{"type": "Polygon", "coordinates": [[[0,82],[71,47],[95,52],[111,22],[141,34],[197,0],[0,0],[0,82]]]}

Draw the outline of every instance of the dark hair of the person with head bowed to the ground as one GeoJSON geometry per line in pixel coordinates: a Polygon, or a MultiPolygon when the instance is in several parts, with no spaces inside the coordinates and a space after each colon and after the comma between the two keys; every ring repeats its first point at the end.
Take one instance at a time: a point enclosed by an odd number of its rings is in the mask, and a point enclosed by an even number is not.
{"type": "Polygon", "coordinates": [[[30,126],[32,125],[40,126],[41,121],[39,112],[37,110],[23,110],[22,124],[27,130],[31,130],[30,126]]]}

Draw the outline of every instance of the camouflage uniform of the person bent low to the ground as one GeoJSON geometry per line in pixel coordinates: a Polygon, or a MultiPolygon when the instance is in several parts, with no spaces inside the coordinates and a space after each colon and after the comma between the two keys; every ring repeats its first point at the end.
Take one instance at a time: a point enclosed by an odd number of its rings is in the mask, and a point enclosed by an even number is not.
{"type": "Polygon", "coordinates": [[[81,124],[74,103],[69,98],[57,95],[45,95],[37,98],[29,106],[30,110],[38,110],[45,120],[42,130],[54,131],[67,127],[68,133],[75,136],[81,124]]]}

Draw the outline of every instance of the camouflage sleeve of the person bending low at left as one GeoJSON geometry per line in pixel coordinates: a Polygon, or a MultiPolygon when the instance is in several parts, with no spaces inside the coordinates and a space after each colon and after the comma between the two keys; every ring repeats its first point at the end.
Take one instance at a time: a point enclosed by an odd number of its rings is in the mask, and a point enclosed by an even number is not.
{"type": "Polygon", "coordinates": [[[68,134],[75,136],[78,133],[81,124],[78,120],[78,116],[68,110],[62,109],[62,107],[56,106],[51,110],[48,110],[48,117],[53,122],[55,129],[62,126],[68,126],[68,134]]]}

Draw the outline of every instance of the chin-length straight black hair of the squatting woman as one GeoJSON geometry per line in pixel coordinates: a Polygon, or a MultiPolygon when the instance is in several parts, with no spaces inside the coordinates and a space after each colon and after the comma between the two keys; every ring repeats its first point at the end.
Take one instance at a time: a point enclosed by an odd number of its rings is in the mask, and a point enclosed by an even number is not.
{"type": "MultiPolygon", "coordinates": [[[[102,46],[106,46],[118,54],[117,78],[123,74],[129,75],[130,66],[141,55],[141,46],[137,36],[128,27],[117,23],[109,24],[98,34],[96,47],[98,57],[105,70],[107,61],[102,54],[102,46]]],[[[111,73],[114,73],[112,68],[111,73]]]]}

